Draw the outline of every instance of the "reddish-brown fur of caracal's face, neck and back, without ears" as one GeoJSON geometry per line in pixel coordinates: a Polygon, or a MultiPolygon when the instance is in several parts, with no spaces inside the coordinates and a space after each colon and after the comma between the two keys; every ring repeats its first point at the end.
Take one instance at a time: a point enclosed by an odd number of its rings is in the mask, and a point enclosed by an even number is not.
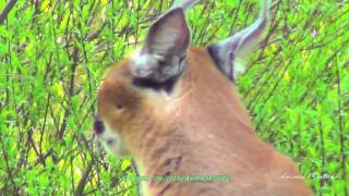
{"type": "Polygon", "coordinates": [[[231,175],[229,182],[144,182],[145,195],[312,195],[297,166],[258,138],[233,84],[206,49],[189,49],[171,94],[132,85],[131,60],[111,68],[98,114],[141,175],[231,175]],[[118,109],[122,107],[122,109],[118,109]]]}

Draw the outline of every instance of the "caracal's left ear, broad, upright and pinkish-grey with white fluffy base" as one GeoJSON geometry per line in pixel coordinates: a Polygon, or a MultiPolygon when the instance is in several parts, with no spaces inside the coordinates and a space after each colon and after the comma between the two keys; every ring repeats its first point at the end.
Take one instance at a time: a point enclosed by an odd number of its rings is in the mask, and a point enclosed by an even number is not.
{"type": "Polygon", "coordinates": [[[145,44],[134,58],[133,73],[139,78],[164,83],[185,66],[190,30],[184,11],[173,8],[149,28],[145,44]]]}

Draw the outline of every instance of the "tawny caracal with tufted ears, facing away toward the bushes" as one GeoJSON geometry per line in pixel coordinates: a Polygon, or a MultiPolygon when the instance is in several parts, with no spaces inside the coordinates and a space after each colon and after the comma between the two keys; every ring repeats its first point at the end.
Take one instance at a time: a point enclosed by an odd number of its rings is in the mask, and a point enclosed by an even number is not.
{"type": "Polygon", "coordinates": [[[179,1],[148,29],[144,45],[107,72],[95,132],[143,176],[217,176],[229,181],[142,182],[143,195],[313,195],[297,166],[258,138],[234,78],[260,44],[268,0],[248,28],[205,48],[190,47],[179,1]]]}

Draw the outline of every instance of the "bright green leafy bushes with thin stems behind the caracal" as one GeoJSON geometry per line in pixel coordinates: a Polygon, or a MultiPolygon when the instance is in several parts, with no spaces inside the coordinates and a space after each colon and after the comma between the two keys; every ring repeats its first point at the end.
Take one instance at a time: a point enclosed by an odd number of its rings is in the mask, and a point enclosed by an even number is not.
{"type": "MultiPolygon", "coordinates": [[[[136,195],[121,180],[134,175],[131,161],[92,134],[96,93],[169,5],[16,2],[0,24],[0,195],[136,195]]],[[[256,0],[196,4],[192,42],[227,37],[258,9],[256,0]]],[[[267,39],[237,82],[261,137],[299,163],[317,195],[349,194],[348,29],[348,1],[275,1],[267,39]]]]}

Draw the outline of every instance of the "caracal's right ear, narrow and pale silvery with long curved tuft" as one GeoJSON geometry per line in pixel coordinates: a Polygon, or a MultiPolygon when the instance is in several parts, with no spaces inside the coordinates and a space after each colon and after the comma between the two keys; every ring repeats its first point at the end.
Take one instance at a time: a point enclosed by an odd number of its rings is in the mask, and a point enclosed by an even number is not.
{"type": "Polygon", "coordinates": [[[264,37],[269,21],[270,0],[263,0],[260,17],[249,27],[208,47],[217,68],[234,81],[244,63],[264,37]]]}

